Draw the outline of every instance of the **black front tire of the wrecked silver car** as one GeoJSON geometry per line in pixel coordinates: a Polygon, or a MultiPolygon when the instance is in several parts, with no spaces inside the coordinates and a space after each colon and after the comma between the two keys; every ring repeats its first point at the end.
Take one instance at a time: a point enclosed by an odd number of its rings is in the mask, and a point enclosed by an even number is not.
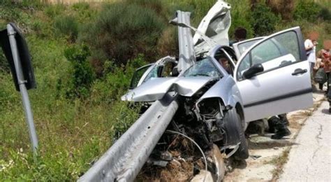
{"type": "Polygon", "coordinates": [[[237,112],[235,113],[237,115],[236,116],[237,119],[235,120],[237,122],[237,131],[240,137],[240,145],[237,151],[233,154],[233,157],[235,158],[235,160],[245,160],[249,158],[249,151],[248,151],[247,139],[244,134],[244,128],[242,127],[243,120],[237,112]]]}

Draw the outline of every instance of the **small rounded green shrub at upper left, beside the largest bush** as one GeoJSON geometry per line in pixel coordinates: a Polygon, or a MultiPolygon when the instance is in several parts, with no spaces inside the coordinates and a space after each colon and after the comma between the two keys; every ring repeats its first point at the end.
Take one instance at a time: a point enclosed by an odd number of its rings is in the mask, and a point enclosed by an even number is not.
{"type": "Polygon", "coordinates": [[[58,34],[68,38],[68,41],[75,42],[78,36],[78,22],[70,15],[59,16],[55,19],[54,27],[58,34]]]}

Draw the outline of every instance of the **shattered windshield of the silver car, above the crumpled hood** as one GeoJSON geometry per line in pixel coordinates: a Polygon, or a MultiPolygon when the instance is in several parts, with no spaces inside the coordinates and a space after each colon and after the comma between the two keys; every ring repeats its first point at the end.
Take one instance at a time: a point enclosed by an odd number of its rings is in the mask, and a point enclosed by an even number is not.
{"type": "Polygon", "coordinates": [[[189,76],[211,76],[211,77],[221,77],[221,73],[212,63],[209,57],[196,62],[189,69],[187,69],[184,74],[184,77],[189,76]]]}

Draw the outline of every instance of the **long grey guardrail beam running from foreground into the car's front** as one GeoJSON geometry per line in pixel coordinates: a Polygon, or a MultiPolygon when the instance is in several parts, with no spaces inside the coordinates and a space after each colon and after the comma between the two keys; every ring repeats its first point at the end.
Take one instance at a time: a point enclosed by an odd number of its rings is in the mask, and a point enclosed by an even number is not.
{"type": "Polygon", "coordinates": [[[176,97],[154,102],[78,181],[133,181],[175,115],[176,97]]]}

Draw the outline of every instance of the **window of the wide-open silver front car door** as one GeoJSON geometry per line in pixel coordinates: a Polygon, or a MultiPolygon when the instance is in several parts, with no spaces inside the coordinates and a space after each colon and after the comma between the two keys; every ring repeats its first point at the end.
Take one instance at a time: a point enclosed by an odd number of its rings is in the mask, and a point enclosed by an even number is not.
{"type": "Polygon", "coordinates": [[[295,31],[287,31],[256,45],[245,55],[238,67],[237,78],[254,64],[262,64],[265,71],[300,61],[300,48],[295,31]]]}

